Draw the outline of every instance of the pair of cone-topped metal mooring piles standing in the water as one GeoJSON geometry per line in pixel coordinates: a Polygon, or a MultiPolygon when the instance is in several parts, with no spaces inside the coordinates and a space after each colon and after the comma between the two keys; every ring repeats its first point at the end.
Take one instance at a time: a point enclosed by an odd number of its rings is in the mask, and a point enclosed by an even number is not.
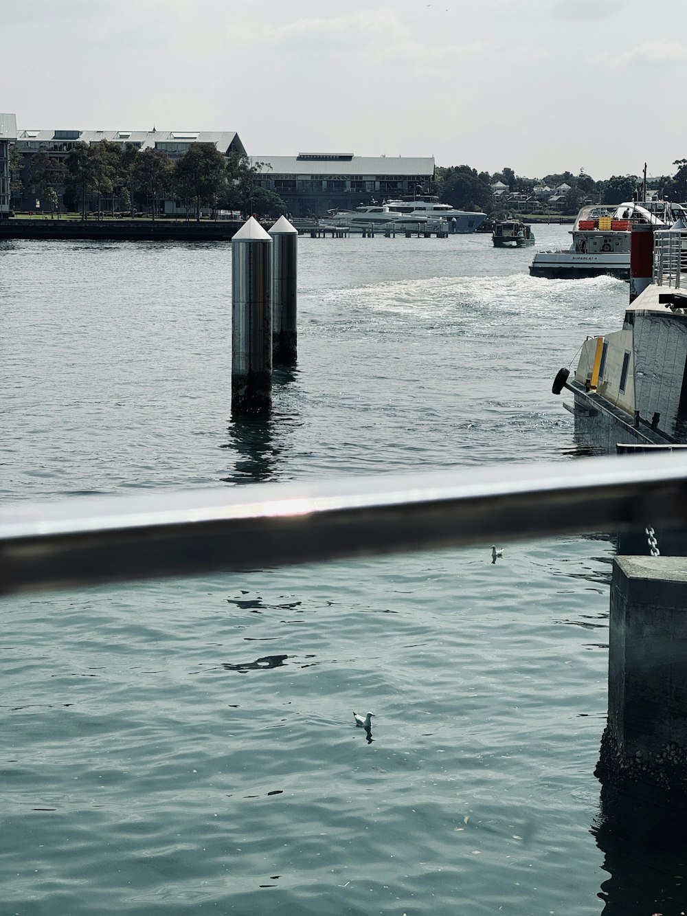
{"type": "Polygon", "coordinates": [[[272,406],[273,365],[297,357],[298,231],[281,216],[267,233],[252,216],[232,239],[232,414],[272,406]]]}

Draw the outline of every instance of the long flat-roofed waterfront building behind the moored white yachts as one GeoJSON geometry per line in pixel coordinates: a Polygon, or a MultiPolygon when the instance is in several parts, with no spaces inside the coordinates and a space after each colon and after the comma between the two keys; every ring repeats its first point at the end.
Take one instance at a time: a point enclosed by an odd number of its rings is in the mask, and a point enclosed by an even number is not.
{"type": "Polygon", "coordinates": [[[387,198],[409,199],[434,192],[434,157],[354,156],[299,153],[253,156],[262,164],[258,182],[275,191],[294,216],[353,210],[387,198]]]}

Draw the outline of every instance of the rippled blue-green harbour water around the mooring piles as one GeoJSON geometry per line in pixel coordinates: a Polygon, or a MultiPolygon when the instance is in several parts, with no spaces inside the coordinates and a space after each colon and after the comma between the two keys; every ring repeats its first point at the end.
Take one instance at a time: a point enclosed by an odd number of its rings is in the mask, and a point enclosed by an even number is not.
{"type": "MultiPolygon", "coordinates": [[[[244,421],[229,243],[4,243],[0,499],[575,460],[551,381],[627,284],[535,234],[300,239],[244,421]]],[[[3,599],[0,913],[686,909],[599,834],[612,541],[497,546],[3,599]]]]}

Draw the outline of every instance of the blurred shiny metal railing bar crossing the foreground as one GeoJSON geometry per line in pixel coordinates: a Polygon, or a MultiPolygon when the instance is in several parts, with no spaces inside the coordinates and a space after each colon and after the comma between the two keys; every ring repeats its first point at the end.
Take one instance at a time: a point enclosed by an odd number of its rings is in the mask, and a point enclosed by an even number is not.
{"type": "Polygon", "coordinates": [[[0,594],[646,526],[683,452],[0,507],[0,594]]]}

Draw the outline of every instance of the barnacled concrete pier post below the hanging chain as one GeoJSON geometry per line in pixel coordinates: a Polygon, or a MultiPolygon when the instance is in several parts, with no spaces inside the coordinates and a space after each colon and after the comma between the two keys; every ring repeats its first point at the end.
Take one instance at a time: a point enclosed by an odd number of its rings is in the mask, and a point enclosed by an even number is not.
{"type": "Polygon", "coordinates": [[[617,557],[610,607],[608,721],[595,772],[605,818],[655,842],[683,833],[687,813],[687,562],[617,557]]]}

